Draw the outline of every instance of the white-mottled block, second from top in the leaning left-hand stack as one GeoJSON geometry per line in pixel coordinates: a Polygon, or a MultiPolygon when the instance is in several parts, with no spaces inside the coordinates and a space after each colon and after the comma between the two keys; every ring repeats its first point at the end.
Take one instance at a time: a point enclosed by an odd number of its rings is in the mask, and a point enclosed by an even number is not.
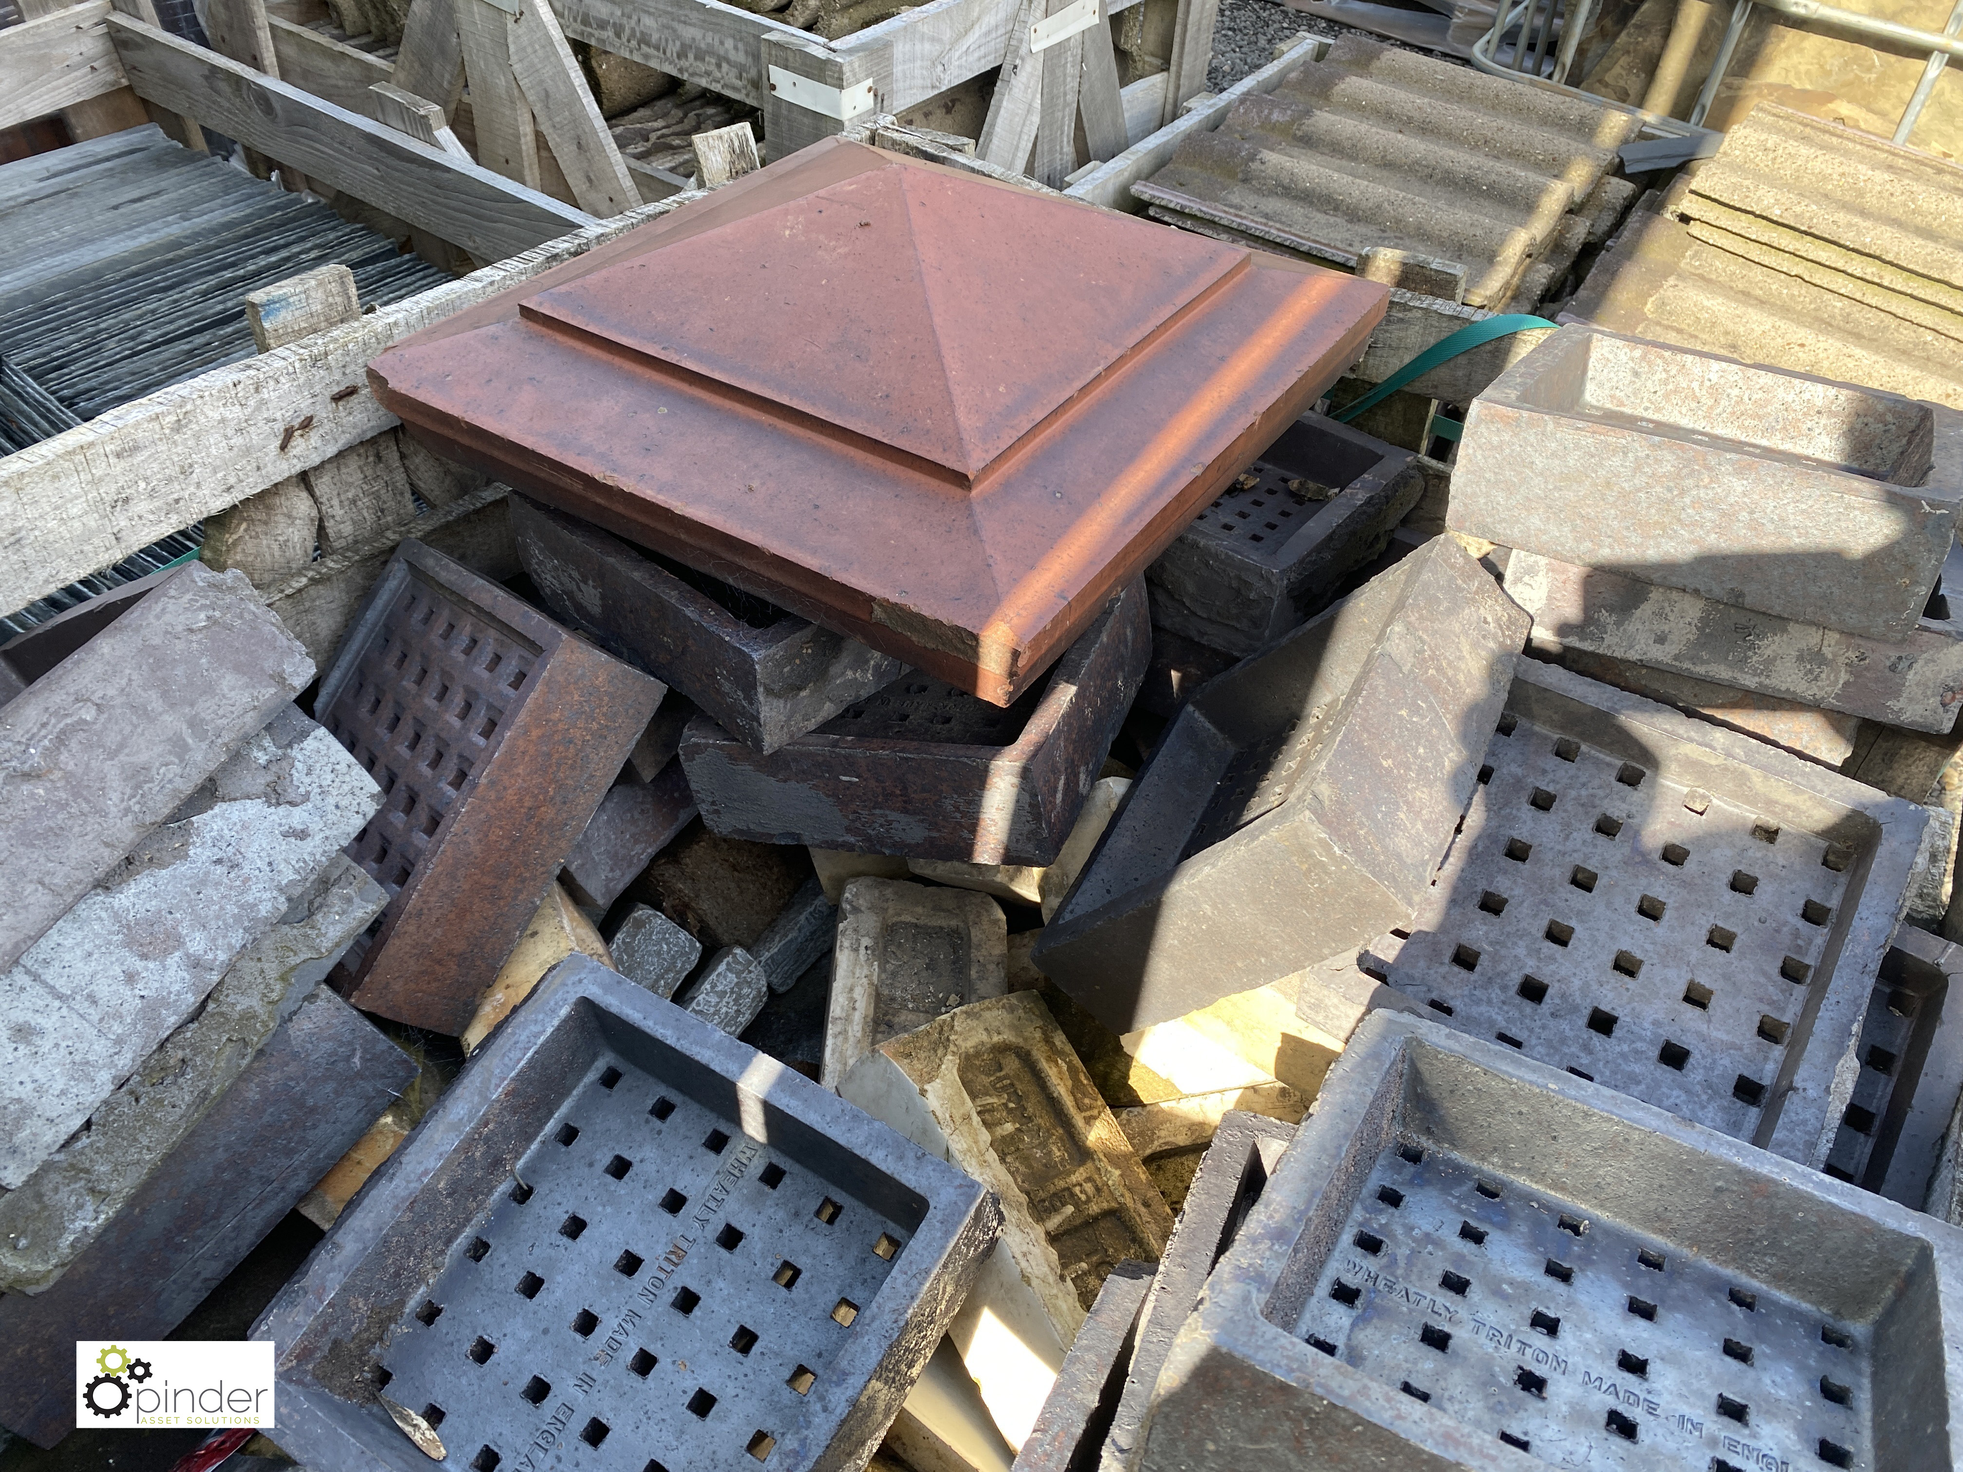
{"type": "Polygon", "coordinates": [[[0,1187],[135,1072],[377,803],[334,738],[285,707],[0,975],[0,1187]]]}

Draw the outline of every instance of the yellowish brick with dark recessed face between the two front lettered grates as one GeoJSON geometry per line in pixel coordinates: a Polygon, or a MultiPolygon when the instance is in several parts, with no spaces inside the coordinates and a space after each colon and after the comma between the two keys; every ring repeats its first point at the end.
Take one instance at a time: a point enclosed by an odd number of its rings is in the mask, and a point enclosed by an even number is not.
{"type": "Polygon", "coordinates": [[[1105,1276],[1164,1250],[1166,1203],[1035,993],[879,1044],[838,1093],[1001,1199],[1001,1242],[948,1333],[1021,1448],[1105,1276]]]}

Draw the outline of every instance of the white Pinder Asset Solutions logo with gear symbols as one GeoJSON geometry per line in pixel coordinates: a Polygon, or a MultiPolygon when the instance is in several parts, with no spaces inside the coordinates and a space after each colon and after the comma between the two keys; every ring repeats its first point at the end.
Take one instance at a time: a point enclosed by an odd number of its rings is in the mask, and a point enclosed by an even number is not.
{"type": "Polygon", "coordinates": [[[75,1425],[273,1429],[273,1341],[75,1341],[75,1425]]]}

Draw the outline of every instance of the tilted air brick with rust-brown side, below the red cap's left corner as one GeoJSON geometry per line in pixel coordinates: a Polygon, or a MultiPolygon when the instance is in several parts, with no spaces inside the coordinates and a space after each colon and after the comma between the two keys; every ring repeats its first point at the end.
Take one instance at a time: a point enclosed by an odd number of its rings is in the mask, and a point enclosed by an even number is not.
{"type": "Polygon", "coordinates": [[[459,1034],[662,691],[497,583],[402,542],[314,701],[383,789],[347,856],[389,909],[336,973],[342,993],[459,1034]]]}

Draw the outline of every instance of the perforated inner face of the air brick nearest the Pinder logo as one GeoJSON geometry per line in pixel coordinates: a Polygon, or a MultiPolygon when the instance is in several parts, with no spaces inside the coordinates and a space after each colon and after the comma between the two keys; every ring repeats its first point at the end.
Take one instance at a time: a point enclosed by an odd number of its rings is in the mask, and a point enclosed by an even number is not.
{"type": "Polygon", "coordinates": [[[601,1054],[383,1354],[450,1460],[768,1462],[903,1229],[601,1054]]]}

